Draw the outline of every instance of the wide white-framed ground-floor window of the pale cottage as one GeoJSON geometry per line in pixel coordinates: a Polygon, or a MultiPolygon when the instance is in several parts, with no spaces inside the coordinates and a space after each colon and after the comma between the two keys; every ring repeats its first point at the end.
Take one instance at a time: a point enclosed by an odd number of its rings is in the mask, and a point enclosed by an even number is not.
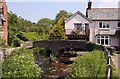
{"type": "Polygon", "coordinates": [[[100,45],[110,45],[110,36],[98,36],[97,44],[100,45]]]}

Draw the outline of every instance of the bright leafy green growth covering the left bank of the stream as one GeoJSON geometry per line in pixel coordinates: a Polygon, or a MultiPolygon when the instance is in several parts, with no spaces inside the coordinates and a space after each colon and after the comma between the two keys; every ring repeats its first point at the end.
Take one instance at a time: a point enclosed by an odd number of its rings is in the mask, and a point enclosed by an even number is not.
{"type": "Polygon", "coordinates": [[[3,62],[3,77],[40,77],[41,68],[34,62],[34,56],[28,49],[13,51],[3,62]]]}

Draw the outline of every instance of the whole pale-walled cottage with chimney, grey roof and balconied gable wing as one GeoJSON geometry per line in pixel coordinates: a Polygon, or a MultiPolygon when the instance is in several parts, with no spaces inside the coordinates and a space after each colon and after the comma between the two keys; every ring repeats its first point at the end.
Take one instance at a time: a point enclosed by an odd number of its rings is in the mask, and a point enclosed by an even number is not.
{"type": "Polygon", "coordinates": [[[120,49],[119,10],[119,8],[92,8],[92,2],[89,1],[86,16],[78,11],[65,21],[65,33],[68,38],[74,34],[74,37],[84,39],[84,35],[96,44],[120,49]]]}

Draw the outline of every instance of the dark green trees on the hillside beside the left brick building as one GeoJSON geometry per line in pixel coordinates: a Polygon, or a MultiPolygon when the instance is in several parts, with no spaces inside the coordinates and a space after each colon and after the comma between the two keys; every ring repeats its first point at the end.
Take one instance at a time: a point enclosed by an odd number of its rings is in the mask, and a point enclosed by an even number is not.
{"type": "Polygon", "coordinates": [[[32,22],[18,17],[13,12],[8,12],[8,45],[9,46],[19,46],[23,37],[20,37],[18,34],[21,32],[39,32],[37,25],[32,22]]]}

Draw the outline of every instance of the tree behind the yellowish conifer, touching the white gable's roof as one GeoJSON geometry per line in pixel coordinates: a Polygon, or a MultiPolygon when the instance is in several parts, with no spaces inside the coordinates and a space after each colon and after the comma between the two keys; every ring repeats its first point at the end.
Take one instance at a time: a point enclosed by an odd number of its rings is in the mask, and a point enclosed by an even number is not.
{"type": "Polygon", "coordinates": [[[64,16],[64,19],[67,19],[68,17],[70,17],[72,15],[72,13],[67,12],[66,10],[60,10],[59,13],[57,13],[56,17],[55,17],[55,23],[58,22],[58,20],[64,16]]]}

